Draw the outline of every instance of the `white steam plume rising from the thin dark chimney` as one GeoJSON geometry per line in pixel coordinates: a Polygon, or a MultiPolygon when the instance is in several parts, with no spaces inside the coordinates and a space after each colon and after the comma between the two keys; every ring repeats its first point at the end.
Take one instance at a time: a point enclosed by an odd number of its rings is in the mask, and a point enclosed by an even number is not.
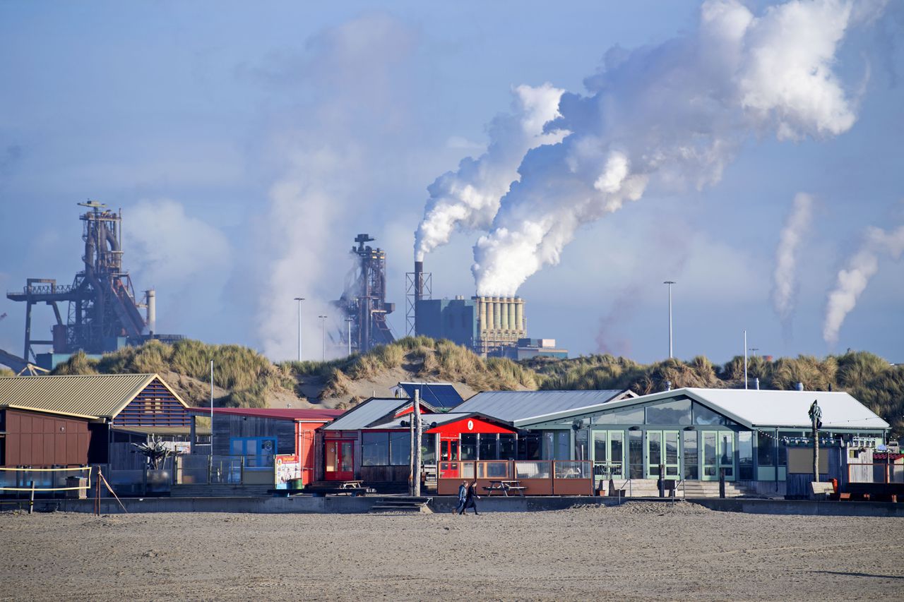
{"type": "Polygon", "coordinates": [[[428,186],[430,198],[424,219],[414,233],[414,256],[424,256],[446,244],[458,228],[486,230],[493,223],[499,200],[518,179],[524,153],[541,145],[556,144],[567,132],[545,132],[544,126],[559,115],[559,99],[565,90],[546,83],[540,87],[513,89],[513,110],[487,127],[490,146],[478,158],[466,157],[456,172],[440,175],[428,186]]]}

